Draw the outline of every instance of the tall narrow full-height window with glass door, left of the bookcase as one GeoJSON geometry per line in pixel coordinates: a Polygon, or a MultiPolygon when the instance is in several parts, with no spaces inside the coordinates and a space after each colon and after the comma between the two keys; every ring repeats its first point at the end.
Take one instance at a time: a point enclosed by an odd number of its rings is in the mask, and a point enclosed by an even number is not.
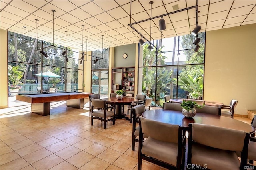
{"type": "Polygon", "coordinates": [[[109,48],[92,51],[92,93],[108,97],[109,48]]]}

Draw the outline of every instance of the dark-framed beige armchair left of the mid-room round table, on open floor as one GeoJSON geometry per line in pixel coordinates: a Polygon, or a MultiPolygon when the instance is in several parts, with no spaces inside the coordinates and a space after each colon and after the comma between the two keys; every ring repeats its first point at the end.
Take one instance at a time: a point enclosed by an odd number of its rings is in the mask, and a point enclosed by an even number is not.
{"type": "Polygon", "coordinates": [[[116,119],[116,107],[115,106],[107,106],[106,100],[101,99],[91,99],[92,100],[92,116],[91,116],[91,125],[93,125],[93,119],[99,119],[100,121],[104,121],[104,129],[106,128],[106,122],[113,121],[113,125],[115,125],[116,119]],[[102,108],[98,111],[93,111],[94,107],[102,108]],[[113,107],[114,112],[108,111],[108,108],[113,107]],[[109,119],[107,119],[110,117],[109,119]]]}

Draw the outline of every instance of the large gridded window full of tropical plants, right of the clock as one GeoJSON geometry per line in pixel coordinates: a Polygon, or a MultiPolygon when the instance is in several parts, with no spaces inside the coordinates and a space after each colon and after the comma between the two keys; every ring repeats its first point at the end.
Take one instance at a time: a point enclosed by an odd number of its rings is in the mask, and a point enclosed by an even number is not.
{"type": "Polygon", "coordinates": [[[205,33],[199,33],[200,48],[194,51],[195,36],[184,35],[152,43],[162,51],[156,56],[149,43],[140,45],[138,91],[152,97],[155,106],[162,107],[164,95],[170,98],[186,98],[191,92],[203,95],[205,33]],[[178,55],[179,53],[179,55],[178,55]]]}

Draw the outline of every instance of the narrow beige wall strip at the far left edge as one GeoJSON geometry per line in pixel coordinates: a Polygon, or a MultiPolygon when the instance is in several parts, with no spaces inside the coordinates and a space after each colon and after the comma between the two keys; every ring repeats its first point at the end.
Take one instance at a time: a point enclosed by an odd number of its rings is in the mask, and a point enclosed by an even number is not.
{"type": "Polygon", "coordinates": [[[8,107],[7,31],[0,30],[0,108],[8,107]]]}

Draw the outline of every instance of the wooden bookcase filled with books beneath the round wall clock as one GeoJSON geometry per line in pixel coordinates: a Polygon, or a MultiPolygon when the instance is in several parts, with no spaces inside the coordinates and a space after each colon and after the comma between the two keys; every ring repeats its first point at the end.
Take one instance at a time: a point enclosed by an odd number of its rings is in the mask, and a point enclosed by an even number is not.
{"type": "Polygon", "coordinates": [[[123,89],[124,96],[134,97],[135,67],[112,68],[111,93],[123,89]]]}

